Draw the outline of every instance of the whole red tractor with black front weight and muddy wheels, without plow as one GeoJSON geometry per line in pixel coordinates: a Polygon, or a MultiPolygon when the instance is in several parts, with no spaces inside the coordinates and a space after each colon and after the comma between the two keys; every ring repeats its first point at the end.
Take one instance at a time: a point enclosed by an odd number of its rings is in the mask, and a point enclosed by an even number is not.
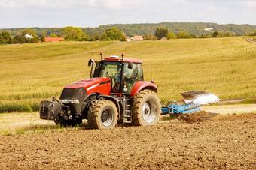
{"type": "Polygon", "coordinates": [[[117,123],[144,126],[157,124],[161,106],[157,85],[144,82],[142,61],[102,58],[93,61],[90,79],[66,85],[56,100],[41,101],[40,118],[73,126],[87,119],[90,128],[113,128],[117,123]]]}

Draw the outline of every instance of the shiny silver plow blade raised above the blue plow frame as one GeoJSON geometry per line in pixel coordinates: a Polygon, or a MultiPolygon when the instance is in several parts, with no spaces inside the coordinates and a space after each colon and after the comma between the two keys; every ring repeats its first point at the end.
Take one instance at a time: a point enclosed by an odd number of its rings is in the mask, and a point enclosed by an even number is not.
{"type": "Polygon", "coordinates": [[[194,103],[198,105],[205,105],[220,101],[217,96],[206,91],[187,91],[181,93],[181,95],[183,96],[186,104],[194,103]]]}

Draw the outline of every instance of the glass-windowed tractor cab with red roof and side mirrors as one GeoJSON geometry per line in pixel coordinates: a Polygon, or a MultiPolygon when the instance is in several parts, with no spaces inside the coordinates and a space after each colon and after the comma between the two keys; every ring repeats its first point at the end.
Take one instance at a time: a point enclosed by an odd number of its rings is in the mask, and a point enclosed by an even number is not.
{"type": "MultiPolygon", "coordinates": [[[[89,61],[90,64],[93,60],[89,61]]],[[[142,61],[129,58],[102,58],[96,61],[96,67],[91,70],[91,78],[110,77],[111,93],[130,94],[133,85],[138,81],[143,81],[142,61]]]]}

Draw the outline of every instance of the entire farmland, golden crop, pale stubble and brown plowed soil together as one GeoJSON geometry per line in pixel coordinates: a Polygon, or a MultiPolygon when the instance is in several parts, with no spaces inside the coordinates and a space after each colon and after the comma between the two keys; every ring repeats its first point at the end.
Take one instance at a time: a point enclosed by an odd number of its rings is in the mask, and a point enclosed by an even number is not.
{"type": "Polygon", "coordinates": [[[33,112],[40,101],[88,78],[87,61],[98,61],[101,50],[143,60],[145,80],[157,84],[162,103],[191,90],[256,96],[256,45],[242,37],[0,46],[0,169],[256,169],[254,98],[203,106],[230,115],[192,123],[89,130],[86,121],[65,128],[40,120],[33,112]]]}

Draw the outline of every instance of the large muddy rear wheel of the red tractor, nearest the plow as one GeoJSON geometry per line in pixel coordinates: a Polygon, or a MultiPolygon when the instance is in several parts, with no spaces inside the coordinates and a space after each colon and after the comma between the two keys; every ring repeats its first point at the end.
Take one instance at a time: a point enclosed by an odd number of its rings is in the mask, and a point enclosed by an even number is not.
{"type": "Polygon", "coordinates": [[[160,118],[160,110],[160,100],[154,91],[139,91],[133,103],[132,125],[145,126],[157,124],[160,118]]]}

